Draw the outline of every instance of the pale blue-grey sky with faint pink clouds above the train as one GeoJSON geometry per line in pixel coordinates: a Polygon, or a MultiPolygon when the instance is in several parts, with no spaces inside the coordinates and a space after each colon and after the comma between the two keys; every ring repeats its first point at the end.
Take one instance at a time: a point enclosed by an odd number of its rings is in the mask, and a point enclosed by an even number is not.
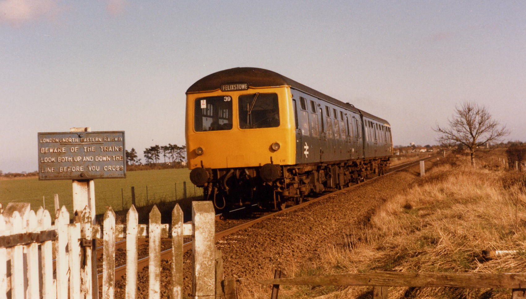
{"type": "Polygon", "coordinates": [[[183,145],[185,91],[277,71],[426,145],[462,101],[526,141],[526,2],[0,0],[0,170],[37,169],[37,132],[183,145]]]}

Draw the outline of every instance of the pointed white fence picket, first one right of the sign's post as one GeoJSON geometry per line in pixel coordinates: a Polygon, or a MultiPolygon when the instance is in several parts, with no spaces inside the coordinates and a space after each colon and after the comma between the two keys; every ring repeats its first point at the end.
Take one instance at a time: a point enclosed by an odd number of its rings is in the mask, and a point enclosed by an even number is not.
{"type": "Polygon", "coordinates": [[[104,213],[104,254],[103,254],[103,299],[113,299],[115,296],[115,212],[108,207],[104,213]]]}

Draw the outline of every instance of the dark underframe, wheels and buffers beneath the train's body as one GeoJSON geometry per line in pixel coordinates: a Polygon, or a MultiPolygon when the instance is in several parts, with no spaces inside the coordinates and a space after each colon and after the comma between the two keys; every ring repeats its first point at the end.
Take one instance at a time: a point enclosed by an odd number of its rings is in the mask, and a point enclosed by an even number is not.
{"type": "MultiPolygon", "coordinates": [[[[229,211],[246,205],[282,210],[299,204],[308,194],[326,189],[343,189],[389,168],[389,157],[348,160],[327,163],[282,166],[265,164],[262,167],[203,169],[206,182],[204,200],[214,202],[216,209],[229,211]]],[[[191,177],[191,176],[190,176],[191,177]]],[[[195,183],[195,182],[194,182],[195,183]]]]}

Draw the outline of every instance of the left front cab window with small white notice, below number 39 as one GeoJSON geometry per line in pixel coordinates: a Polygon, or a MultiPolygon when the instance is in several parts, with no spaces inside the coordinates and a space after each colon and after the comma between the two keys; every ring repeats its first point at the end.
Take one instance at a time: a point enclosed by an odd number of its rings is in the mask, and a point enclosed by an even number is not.
{"type": "Polygon", "coordinates": [[[194,129],[196,132],[230,130],[232,128],[232,98],[216,96],[195,100],[194,129]]]}

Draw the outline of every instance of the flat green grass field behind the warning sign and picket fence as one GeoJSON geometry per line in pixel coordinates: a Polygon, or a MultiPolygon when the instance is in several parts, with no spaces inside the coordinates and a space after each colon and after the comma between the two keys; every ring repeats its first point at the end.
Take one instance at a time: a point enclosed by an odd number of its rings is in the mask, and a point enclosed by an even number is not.
{"type": "MultiPolygon", "coordinates": [[[[129,171],[126,179],[95,180],[97,214],[103,213],[107,205],[114,210],[128,209],[131,204],[131,187],[135,187],[137,206],[174,201],[183,198],[183,182],[186,181],[188,197],[202,195],[201,188],[194,188],[186,168],[129,171]],[[176,193],[177,189],[177,193],[176,193]],[[124,199],[124,200],[123,200],[124,199]],[[124,201],[124,203],[123,203],[124,201]]],[[[72,212],[72,181],[39,181],[37,178],[0,180],[0,202],[29,202],[33,210],[43,205],[54,217],[54,194],[58,194],[60,205],[72,212]]]]}

